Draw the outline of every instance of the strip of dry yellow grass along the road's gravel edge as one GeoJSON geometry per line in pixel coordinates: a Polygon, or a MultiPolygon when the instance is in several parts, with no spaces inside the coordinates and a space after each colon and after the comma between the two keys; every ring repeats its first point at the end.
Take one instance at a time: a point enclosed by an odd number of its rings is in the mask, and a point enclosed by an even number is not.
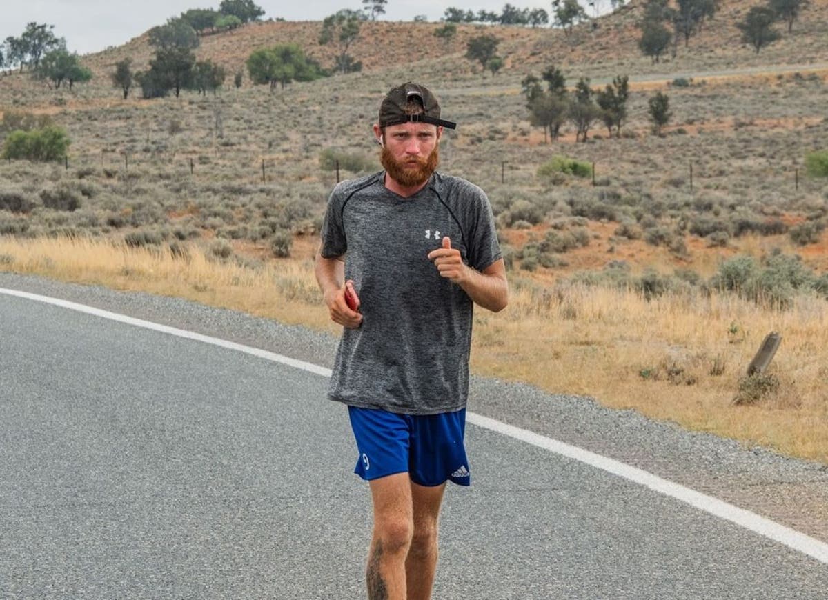
{"type": "MultiPolygon", "coordinates": [[[[0,270],[142,290],[336,332],[310,260],[258,269],[91,239],[0,238],[0,270]]],[[[828,463],[828,315],[802,297],[784,312],[732,295],[644,300],[623,290],[551,289],[512,276],[506,310],[475,316],[474,372],[550,392],[594,396],[691,430],[709,431],[828,463]],[[734,406],[739,379],[764,336],[782,334],[769,372],[780,385],[734,406]]]]}

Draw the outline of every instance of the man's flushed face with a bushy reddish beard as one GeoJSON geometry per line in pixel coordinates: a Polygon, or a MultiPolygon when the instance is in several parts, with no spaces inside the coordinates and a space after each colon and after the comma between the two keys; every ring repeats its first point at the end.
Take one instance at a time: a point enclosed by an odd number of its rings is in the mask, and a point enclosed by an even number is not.
{"type": "Polygon", "coordinates": [[[439,162],[441,129],[416,122],[386,127],[380,160],[388,175],[403,187],[424,184],[439,162]]]}

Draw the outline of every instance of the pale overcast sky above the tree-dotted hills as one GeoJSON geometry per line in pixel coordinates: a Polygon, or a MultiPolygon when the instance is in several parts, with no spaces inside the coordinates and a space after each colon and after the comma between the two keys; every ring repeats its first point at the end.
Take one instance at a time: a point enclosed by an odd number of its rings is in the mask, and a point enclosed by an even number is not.
{"type": "MultiPolygon", "coordinates": [[[[609,0],[601,0],[609,3],[609,0]]],[[[581,0],[586,5],[588,0],[581,0]]],[[[140,36],[152,26],[161,25],[169,17],[177,17],[190,8],[218,9],[221,0],[3,0],[0,19],[0,41],[19,36],[27,22],[55,26],[55,35],[66,39],[66,46],[79,54],[120,46],[140,36]]],[[[262,0],[264,17],[282,17],[288,21],[321,21],[340,8],[359,9],[362,0],[262,0]]],[[[388,21],[412,21],[426,15],[439,21],[447,7],[474,12],[484,8],[501,12],[510,3],[520,8],[543,8],[551,12],[551,0],[388,0],[388,21]]],[[[590,9],[591,10],[591,9],[590,9]]]]}

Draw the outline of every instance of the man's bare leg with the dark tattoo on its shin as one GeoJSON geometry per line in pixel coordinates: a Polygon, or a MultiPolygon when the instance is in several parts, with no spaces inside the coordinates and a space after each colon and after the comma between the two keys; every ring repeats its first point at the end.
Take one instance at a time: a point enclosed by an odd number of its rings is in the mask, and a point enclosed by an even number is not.
{"type": "Polygon", "coordinates": [[[412,484],[408,473],[369,482],[373,537],[368,550],[368,600],[406,598],[406,555],[412,543],[412,484]]]}

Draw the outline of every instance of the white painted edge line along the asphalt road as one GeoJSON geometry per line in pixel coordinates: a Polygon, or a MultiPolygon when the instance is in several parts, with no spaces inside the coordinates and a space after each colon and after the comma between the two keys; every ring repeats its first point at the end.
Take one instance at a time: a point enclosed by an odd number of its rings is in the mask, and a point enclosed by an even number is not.
{"type": "MultiPolygon", "coordinates": [[[[330,369],[320,367],[319,365],[315,365],[311,362],[296,360],[295,358],[282,356],[282,354],[267,352],[267,350],[252,348],[250,346],[229,342],[220,338],[212,338],[208,335],[195,334],[194,332],[186,331],[185,329],[177,329],[168,325],[152,323],[152,321],[128,317],[125,314],[96,309],[93,306],[81,305],[68,300],[60,300],[49,296],[30,294],[25,291],[0,288],[0,294],[13,295],[27,300],[44,302],[46,304],[60,306],[65,309],[76,310],[81,313],[93,314],[94,316],[101,317],[103,319],[110,319],[145,329],[152,329],[153,331],[158,331],[163,334],[171,334],[180,338],[210,343],[221,348],[228,348],[230,350],[251,354],[258,358],[265,358],[266,360],[272,362],[280,362],[289,367],[296,367],[307,372],[315,373],[316,375],[320,375],[322,377],[330,377],[330,369]]],[[[607,473],[612,473],[618,477],[627,479],[628,481],[638,483],[644,487],[649,487],[654,492],[664,494],[665,496],[669,496],[691,506],[695,506],[700,511],[705,511],[710,515],[718,516],[725,521],[731,521],[732,523],[753,531],[758,535],[763,535],[764,537],[786,545],[793,550],[807,554],[821,563],[828,564],[828,544],[820,540],[816,540],[810,535],[805,535],[797,530],[792,530],[791,528],[780,525],[775,521],[759,516],[754,512],[745,511],[738,506],[722,502],[718,498],[696,492],[695,490],[679,485],[678,483],[667,481],[667,479],[662,479],[652,473],[648,473],[647,471],[643,471],[640,468],[633,467],[632,465],[628,465],[626,463],[621,463],[613,458],[607,458],[605,456],[601,456],[600,454],[590,452],[589,450],[565,444],[556,439],[547,438],[544,435],[532,433],[532,431],[522,430],[519,427],[514,427],[513,425],[489,419],[489,417],[477,415],[472,412],[467,412],[466,417],[469,423],[473,425],[483,427],[484,429],[494,431],[498,434],[508,435],[511,438],[518,439],[527,444],[532,444],[533,446],[546,449],[555,454],[561,454],[561,456],[572,458],[580,461],[581,463],[599,468],[607,473]]]]}

